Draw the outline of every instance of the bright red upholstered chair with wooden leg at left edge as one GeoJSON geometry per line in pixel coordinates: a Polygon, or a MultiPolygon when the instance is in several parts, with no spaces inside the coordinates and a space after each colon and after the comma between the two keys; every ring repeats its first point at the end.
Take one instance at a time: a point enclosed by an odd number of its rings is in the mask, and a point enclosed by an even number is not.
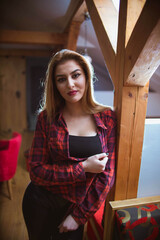
{"type": "Polygon", "coordinates": [[[9,197],[12,199],[11,178],[16,173],[21,134],[14,132],[9,140],[0,140],[0,182],[7,181],[9,197]]]}

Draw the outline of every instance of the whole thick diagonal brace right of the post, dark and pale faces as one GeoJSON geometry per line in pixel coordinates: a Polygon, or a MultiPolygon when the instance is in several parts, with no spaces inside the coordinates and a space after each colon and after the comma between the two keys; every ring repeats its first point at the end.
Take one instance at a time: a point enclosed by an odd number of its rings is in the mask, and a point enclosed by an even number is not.
{"type": "MultiPolygon", "coordinates": [[[[139,71],[140,69],[140,64],[144,60],[146,61],[147,59],[147,56],[145,55],[146,54],[148,55],[150,51],[154,50],[154,48],[151,47],[151,44],[155,40],[156,40],[156,43],[155,43],[156,51],[152,52],[151,57],[155,56],[155,63],[157,65],[156,56],[157,56],[157,51],[159,51],[159,31],[157,29],[159,28],[159,23],[158,23],[160,18],[159,12],[160,12],[159,0],[146,1],[144,8],[141,12],[141,15],[136,23],[136,26],[131,34],[131,37],[126,47],[126,55],[125,55],[126,65],[125,65],[125,78],[124,78],[124,82],[126,84],[134,84],[139,86],[144,86],[146,84],[146,82],[141,83],[142,79],[136,80],[136,75],[137,75],[137,71],[139,71]],[[149,38],[150,36],[151,38],[149,38]],[[144,49],[144,46],[145,46],[145,49],[144,49]],[[140,61],[138,60],[139,57],[140,57],[140,61]],[[135,69],[133,69],[135,64],[136,64],[136,67],[135,69]],[[136,71],[132,71],[132,70],[136,70],[136,71]]],[[[150,72],[152,72],[153,74],[153,71],[154,71],[152,67],[148,65],[150,64],[150,60],[151,59],[148,58],[148,61],[147,61],[147,67],[150,67],[149,68],[150,70],[148,69],[149,76],[150,76],[150,72]]],[[[155,63],[153,63],[153,65],[155,63]]],[[[144,71],[143,68],[140,69],[140,75],[143,71],[144,71]]],[[[148,77],[148,80],[149,78],[150,77],[148,77]]],[[[147,78],[145,78],[145,80],[148,81],[147,78]]]]}

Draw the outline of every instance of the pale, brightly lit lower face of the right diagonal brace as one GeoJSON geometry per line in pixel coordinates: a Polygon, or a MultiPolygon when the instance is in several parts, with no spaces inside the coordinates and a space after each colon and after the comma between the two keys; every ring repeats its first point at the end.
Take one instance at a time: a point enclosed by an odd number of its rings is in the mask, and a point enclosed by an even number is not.
{"type": "MultiPolygon", "coordinates": [[[[126,59],[127,61],[127,59],[126,59]]],[[[139,58],[132,68],[126,85],[145,86],[160,65],[160,20],[153,29],[139,58]]]]}

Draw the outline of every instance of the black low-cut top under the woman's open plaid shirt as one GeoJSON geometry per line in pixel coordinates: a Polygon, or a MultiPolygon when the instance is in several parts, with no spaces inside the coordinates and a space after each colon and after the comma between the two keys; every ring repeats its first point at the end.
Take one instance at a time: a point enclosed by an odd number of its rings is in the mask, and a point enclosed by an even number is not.
{"type": "Polygon", "coordinates": [[[102,152],[98,134],[96,136],[69,135],[69,152],[71,157],[86,158],[102,152]]]}

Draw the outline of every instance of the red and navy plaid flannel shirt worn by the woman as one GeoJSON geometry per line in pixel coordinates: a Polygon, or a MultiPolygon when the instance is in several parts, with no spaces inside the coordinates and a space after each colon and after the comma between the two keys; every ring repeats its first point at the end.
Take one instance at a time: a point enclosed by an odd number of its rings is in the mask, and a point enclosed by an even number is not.
{"type": "Polygon", "coordinates": [[[112,110],[94,114],[102,152],[109,160],[102,173],[85,173],[83,158],[69,154],[69,133],[62,114],[51,123],[39,114],[29,154],[31,181],[72,202],[70,214],[84,224],[101,206],[114,183],[116,118],[112,110]]]}

